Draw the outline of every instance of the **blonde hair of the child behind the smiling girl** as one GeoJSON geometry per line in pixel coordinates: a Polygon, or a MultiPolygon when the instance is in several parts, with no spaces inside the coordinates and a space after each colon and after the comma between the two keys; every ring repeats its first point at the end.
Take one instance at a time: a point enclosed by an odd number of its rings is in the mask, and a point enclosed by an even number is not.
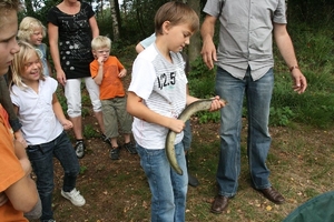
{"type": "Polygon", "coordinates": [[[32,17],[26,17],[20,23],[18,38],[20,40],[30,42],[31,34],[33,34],[33,31],[39,28],[42,29],[42,36],[45,38],[47,36],[47,29],[41,21],[32,17]]]}

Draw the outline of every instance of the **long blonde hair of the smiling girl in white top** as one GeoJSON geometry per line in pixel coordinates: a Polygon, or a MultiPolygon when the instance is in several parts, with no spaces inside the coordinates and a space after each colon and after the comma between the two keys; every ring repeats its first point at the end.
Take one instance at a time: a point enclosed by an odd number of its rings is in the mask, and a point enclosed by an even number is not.
{"type": "Polygon", "coordinates": [[[10,65],[8,79],[10,85],[16,84],[20,89],[24,89],[26,84],[22,82],[22,78],[20,73],[23,73],[26,71],[26,61],[30,59],[33,54],[36,54],[38,61],[40,62],[40,77],[39,77],[40,80],[45,80],[45,75],[42,72],[43,65],[36,49],[30,43],[24,41],[18,41],[18,44],[20,46],[20,51],[16,53],[13,57],[12,63],[10,65]]]}

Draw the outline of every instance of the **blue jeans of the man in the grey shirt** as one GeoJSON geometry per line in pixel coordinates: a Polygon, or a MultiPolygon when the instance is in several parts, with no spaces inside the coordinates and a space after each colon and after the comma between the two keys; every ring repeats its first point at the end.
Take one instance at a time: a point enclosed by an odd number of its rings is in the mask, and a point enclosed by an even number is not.
{"type": "Polygon", "coordinates": [[[234,196],[237,192],[245,93],[248,112],[247,154],[252,182],[255,189],[271,186],[266,159],[272,142],[268,119],[273,88],[273,69],[257,81],[253,81],[249,69],[243,80],[234,78],[222,68],[217,69],[216,93],[228,102],[220,110],[220,154],[217,169],[220,195],[234,196]]]}

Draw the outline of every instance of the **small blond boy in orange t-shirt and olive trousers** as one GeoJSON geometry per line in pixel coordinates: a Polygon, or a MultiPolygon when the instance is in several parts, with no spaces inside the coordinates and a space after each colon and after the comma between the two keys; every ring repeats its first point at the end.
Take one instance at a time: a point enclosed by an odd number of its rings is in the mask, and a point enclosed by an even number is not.
{"type": "Polygon", "coordinates": [[[100,88],[100,101],[102,104],[106,137],[111,144],[111,160],[119,159],[119,145],[117,143],[118,122],[124,133],[126,148],[131,154],[136,154],[136,148],[131,142],[132,117],[126,111],[126,92],[121,78],[127,70],[116,57],[109,56],[111,40],[107,37],[96,37],[91,41],[95,60],[90,63],[90,73],[94,81],[100,88]]]}

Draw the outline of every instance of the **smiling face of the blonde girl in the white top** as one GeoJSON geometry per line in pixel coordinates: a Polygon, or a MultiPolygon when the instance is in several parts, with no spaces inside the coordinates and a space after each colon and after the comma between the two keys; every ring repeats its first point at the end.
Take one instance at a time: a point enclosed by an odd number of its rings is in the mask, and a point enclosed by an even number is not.
{"type": "Polygon", "coordinates": [[[22,81],[27,83],[39,80],[41,75],[41,68],[42,64],[38,54],[31,53],[31,57],[24,61],[24,71],[21,73],[22,81]]]}

